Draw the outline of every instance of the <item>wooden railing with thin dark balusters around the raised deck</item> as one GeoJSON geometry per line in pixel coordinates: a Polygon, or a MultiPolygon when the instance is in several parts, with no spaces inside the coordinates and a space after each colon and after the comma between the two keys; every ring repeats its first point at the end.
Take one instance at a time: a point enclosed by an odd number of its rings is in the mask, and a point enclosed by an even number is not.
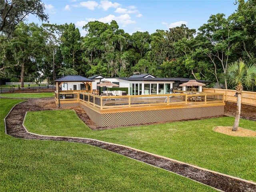
{"type": "Polygon", "coordinates": [[[55,92],[55,100],[58,102],[74,100],[88,103],[97,108],[134,107],[170,104],[200,104],[212,102],[224,102],[224,94],[202,92],[195,94],[159,94],[159,95],[126,95],[126,96],[98,96],[85,92],[55,92]]]}

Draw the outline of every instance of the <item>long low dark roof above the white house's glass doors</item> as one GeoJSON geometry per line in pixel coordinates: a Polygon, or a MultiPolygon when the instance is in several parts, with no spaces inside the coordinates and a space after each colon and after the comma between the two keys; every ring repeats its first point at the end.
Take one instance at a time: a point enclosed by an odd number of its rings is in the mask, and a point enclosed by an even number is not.
{"type": "MultiPolygon", "coordinates": [[[[195,80],[195,79],[189,79],[189,78],[144,78],[144,77],[118,77],[118,79],[126,80],[126,81],[174,81],[174,82],[188,82],[189,80],[195,80]]],[[[197,82],[202,83],[210,83],[211,81],[207,80],[196,80],[197,82]]]]}

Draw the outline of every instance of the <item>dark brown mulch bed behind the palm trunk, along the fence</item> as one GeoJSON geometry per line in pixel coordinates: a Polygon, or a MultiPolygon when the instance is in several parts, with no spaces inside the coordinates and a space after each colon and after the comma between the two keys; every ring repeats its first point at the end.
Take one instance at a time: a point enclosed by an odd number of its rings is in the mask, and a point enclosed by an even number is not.
{"type": "MultiPolygon", "coordinates": [[[[226,102],[224,114],[228,116],[236,116],[236,103],[226,102]]],[[[242,104],[240,117],[256,121],[256,106],[242,104]]]]}

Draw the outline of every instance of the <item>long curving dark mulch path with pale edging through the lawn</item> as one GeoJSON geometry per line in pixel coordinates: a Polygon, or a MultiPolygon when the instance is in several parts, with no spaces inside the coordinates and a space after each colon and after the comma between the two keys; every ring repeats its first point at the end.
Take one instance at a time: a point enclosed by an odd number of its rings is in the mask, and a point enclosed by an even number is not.
{"type": "MultiPolygon", "coordinates": [[[[256,185],[248,182],[240,181],[220,174],[212,173],[206,170],[200,170],[193,166],[174,162],[164,158],[156,157],[144,152],[138,152],[122,146],[116,146],[115,144],[107,144],[101,141],[95,141],[91,139],[83,138],[66,138],[66,137],[54,137],[54,136],[37,136],[34,134],[27,133],[22,122],[25,117],[26,111],[40,111],[40,110],[51,110],[56,109],[56,105],[53,100],[48,98],[44,99],[30,99],[27,102],[16,105],[10,114],[6,118],[6,131],[7,134],[16,138],[33,139],[33,140],[54,140],[54,141],[67,141],[77,142],[83,144],[90,144],[99,148],[103,148],[124,156],[163,168],[165,170],[172,171],[180,174],[192,180],[201,182],[203,184],[212,186],[219,190],[227,192],[244,192],[244,191],[255,191],[256,185]]],[[[85,117],[85,116],[84,116],[85,117]]]]}

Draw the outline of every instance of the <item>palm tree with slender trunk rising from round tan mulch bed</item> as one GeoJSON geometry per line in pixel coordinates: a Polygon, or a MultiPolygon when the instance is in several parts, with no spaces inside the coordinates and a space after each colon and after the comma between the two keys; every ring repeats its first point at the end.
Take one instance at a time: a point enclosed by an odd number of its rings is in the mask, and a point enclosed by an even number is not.
{"type": "Polygon", "coordinates": [[[247,66],[242,60],[234,62],[227,67],[224,78],[228,80],[230,85],[236,88],[236,120],[232,131],[237,131],[240,120],[243,85],[250,87],[256,84],[256,66],[247,66]]]}

